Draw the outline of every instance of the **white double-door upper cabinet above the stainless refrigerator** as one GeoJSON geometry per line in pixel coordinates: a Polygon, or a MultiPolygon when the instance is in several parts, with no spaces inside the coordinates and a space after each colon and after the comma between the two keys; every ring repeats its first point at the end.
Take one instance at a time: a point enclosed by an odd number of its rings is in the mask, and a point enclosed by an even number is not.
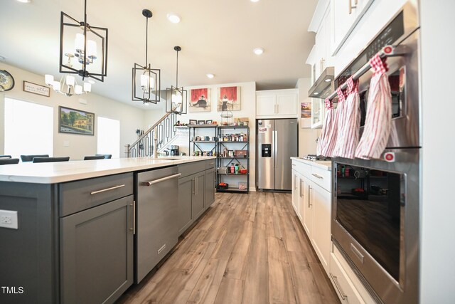
{"type": "Polygon", "coordinates": [[[256,91],[256,116],[262,118],[298,117],[298,89],[256,91]]]}

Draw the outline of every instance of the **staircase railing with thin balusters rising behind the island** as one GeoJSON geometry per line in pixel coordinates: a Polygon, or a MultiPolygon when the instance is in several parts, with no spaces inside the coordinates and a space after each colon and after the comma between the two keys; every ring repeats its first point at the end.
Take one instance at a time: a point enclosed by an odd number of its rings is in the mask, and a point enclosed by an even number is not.
{"type": "Polygon", "coordinates": [[[156,157],[158,151],[166,147],[176,136],[177,115],[166,113],[156,124],[144,132],[132,145],[125,146],[126,157],[156,157]]]}

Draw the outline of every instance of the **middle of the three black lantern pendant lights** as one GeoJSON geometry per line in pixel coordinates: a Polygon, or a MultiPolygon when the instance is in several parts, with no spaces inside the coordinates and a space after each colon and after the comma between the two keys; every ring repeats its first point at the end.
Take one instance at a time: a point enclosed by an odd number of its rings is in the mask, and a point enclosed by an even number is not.
{"type": "Polygon", "coordinates": [[[159,91],[161,90],[161,70],[151,68],[149,61],[147,61],[149,18],[152,14],[148,9],[143,9],[142,15],[146,18],[145,65],[134,63],[132,99],[143,103],[158,103],[159,91]]]}

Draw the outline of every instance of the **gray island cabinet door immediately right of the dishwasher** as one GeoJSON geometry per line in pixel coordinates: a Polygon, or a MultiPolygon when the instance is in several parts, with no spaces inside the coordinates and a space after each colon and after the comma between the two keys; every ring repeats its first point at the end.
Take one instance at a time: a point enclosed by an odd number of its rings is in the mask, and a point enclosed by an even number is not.
{"type": "Polygon", "coordinates": [[[194,190],[194,175],[178,179],[177,220],[179,236],[193,224],[191,201],[195,192],[194,190]]]}

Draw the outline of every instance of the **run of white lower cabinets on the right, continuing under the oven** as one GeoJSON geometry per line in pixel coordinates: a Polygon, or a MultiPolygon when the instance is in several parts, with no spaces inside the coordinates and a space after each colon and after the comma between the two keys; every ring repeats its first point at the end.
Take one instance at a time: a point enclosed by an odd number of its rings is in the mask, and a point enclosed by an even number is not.
{"type": "Polygon", "coordinates": [[[331,171],[292,159],[292,206],[341,303],[375,303],[331,241],[331,171]]]}

